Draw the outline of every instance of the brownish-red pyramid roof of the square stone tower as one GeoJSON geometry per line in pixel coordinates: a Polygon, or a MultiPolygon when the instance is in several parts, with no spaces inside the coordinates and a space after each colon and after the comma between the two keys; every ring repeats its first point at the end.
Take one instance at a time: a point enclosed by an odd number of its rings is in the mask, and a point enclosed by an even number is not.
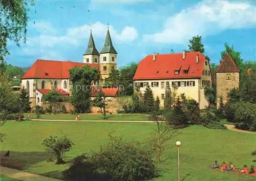
{"type": "Polygon", "coordinates": [[[221,64],[218,66],[216,73],[223,73],[223,72],[240,72],[236,63],[232,60],[232,58],[226,54],[222,60],[221,64]]]}

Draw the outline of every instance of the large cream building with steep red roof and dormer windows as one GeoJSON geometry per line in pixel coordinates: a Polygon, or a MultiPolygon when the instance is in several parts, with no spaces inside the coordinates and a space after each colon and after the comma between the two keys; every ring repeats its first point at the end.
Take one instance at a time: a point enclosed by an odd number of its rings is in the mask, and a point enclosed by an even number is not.
{"type": "Polygon", "coordinates": [[[178,87],[177,93],[196,100],[200,109],[208,106],[204,87],[211,86],[209,62],[200,52],[153,54],[142,59],[134,76],[135,86],[143,93],[149,85],[163,106],[166,87],[178,87]]]}

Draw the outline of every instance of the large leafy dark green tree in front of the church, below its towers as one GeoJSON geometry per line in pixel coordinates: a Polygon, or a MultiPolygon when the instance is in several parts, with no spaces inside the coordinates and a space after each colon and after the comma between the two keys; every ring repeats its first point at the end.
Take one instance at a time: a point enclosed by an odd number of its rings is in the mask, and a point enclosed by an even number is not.
{"type": "Polygon", "coordinates": [[[71,103],[76,112],[90,112],[92,83],[99,81],[99,73],[89,65],[74,67],[69,70],[70,81],[73,84],[71,103]]]}

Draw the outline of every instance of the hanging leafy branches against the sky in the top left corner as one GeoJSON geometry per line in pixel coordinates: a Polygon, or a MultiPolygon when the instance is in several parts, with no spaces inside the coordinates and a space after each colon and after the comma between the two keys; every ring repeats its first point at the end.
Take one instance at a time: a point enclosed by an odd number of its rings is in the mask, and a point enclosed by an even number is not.
{"type": "Polygon", "coordinates": [[[19,46],[20,40],[26,42],[28,10],[33,0],[0,1],[0,56],[7,55],[8,40],[19,46]]]}

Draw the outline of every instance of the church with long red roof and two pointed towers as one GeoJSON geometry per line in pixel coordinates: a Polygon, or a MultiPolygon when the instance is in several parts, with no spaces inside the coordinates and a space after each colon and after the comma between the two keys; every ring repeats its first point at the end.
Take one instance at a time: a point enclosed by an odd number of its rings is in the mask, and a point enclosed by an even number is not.
{"type": "MultiPolygon", "coordinates": [[[[109,77],[111,70],[117,69],[117,52],[112,44],[109,29],[100,53],[95,47],[91,31],[87,50],[83,54],[83,62],[37,59],[22,77],[21,82],[21,86],[29,90],[31,107],[41,105],[42,96],[49,94],[51,90],[56,90],[63,96],[70,96],[72,82],[69,80],[69,70],[75,66],[84,65],[98,69],[100,82],[109,77]]],[[[102,88],[102,92],[109,97],[114,97],[117,89],[102,88]]],[[[95,93],[92,94],[95,96],[95,93]]]]}

